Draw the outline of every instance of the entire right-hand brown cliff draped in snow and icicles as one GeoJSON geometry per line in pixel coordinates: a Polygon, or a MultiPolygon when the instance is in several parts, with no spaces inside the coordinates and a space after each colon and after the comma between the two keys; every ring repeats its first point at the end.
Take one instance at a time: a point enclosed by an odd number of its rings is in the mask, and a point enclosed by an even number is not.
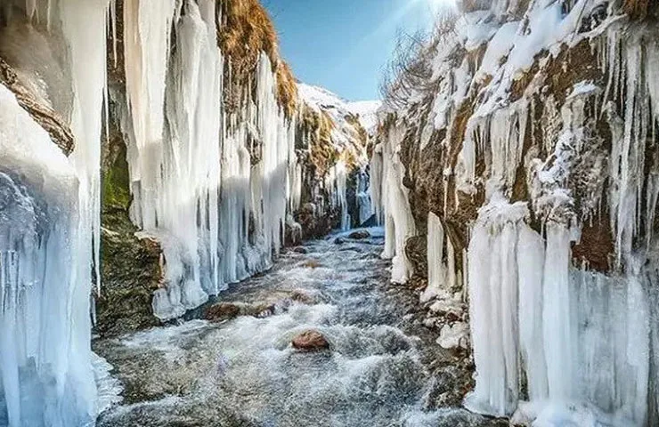
{"type": "Polygon", "coordinates": [[[399,58],[372,194],[393,279],[468,304],[468,408],[659,423],[657,40],[653,2],[465,0],[399,58]]]}

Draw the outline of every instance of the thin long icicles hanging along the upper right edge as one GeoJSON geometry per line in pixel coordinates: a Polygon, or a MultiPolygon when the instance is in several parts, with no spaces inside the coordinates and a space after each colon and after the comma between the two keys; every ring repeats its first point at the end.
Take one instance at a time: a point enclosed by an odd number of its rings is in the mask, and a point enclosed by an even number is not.
{"type": "MultiPolygon", "coordinates": [[[[604,112],[612,130],[609,174],[614,184],[609,191],[612,212],[611,225],[615,230],[618,263],[625,262],[632,252],[634,238],[645,232],[652,240],[651,222],[641,227],[643,189],[654,191],[652,182],[643,180],[647,146],[659,143],[659,42],[655,30],[635,31],[628,36],[624,28],[610,28],[599,45],[601,67],[608,82],[605,99],[610,101],[604,112]],[[604,45],[602,45],[604,44],[604,45]],[[618,111],[616,105],[622,107],[618,111]]],[[[656,197],[647,197],[648,213],[654,213],[656,197]]]]}

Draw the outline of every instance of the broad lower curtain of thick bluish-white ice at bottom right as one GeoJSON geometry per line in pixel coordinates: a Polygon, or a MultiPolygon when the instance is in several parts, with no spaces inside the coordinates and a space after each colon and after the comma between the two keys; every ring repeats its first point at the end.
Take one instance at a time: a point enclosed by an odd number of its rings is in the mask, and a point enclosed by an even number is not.
{"type": "Polygon", "coordinates": [[[468,277],[476,390],[465,404],[491,415],[517,411],[517,423],[646,425],[651,379],[645,273],[607,278],[572,270],[571,231],[549,222],[543,239],[526,225],[527,215],[524,203],[495,197],[472,231],[468,277]],[[520,372],[528,403],[519,401],[520,372]]]}

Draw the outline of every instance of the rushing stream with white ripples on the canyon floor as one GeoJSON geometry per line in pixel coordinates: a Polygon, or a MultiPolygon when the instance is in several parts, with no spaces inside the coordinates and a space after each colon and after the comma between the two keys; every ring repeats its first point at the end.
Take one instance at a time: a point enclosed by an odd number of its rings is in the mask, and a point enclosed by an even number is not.
{"type": "Polygon", "coordinates": [[[370,233],[308,242],[221,295],[264,303],[265,316],[192,319],[95,342],[125,388],[123,405],[106,411],[100,425],[491,425],[460,408],[433,407],[432,397],[451,382],[430,375],[428,360],[448,356],[435,344],[428,357],[418,296],[388,284],[382,231],[370,233]],[[330,350],[292,348],[291,339],[310,328],[330,350]]]}

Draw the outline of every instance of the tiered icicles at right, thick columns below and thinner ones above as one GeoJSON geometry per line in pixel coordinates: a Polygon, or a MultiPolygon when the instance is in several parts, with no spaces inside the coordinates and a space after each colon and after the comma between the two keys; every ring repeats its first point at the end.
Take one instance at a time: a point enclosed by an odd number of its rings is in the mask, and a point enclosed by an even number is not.
{"type": "MultiPolygon", "coordinates": [[[[659,423],[659,323],[656,300],[657,165],[645,158],[659,143],[659,43],[656,31],[625,33],[613,25],[593,42],[606,88],[575,85],[560,108],[552,161],[532,160],[531,204],[544,238],[527,225],[527,207],[509,205],[497,188],[511,188],[521,164],[524,101],[495,111],[479,128],[487,147],[490,192],[468,247],[468,290],[476,360],[476,390],[466,405],[511,415],[519,423],[645,426],[659,423]],[[574,214],[567,178],[574,160],[590,156],[585,100],[600,106],[612,130],[606,200],[614,230],[616,266],[608,277],[571,267],[587,209],[598,209],[605,161],[593,157],[592,203],[574,214]],[[501,186],[501,187],[499,187],[501,186]],[[635,245],[641,240],[643,245],[635,245]],[[647,262],[649,261],[649,262],[647,262]],[[623,271],[623,272],[622,272],[623,271]],[[529,402],[522,400],[522,373],[529,402]],[[517,412],[516,412],[517,411],[517,412]]],[[[551,100],[549,100],[551,101],[551,100]]],[[[468,138],[473,149],[473,140],[468,138]]],[[[469,157],[472,158],[473,154],[469,157]]],[[[473,158],[472,158],[473,160],[473,158]]],[[[472,164],[473,161],[464,162],[472,164]]],[[[596,220],[597,221],[597,220],[596,220]]]]}

